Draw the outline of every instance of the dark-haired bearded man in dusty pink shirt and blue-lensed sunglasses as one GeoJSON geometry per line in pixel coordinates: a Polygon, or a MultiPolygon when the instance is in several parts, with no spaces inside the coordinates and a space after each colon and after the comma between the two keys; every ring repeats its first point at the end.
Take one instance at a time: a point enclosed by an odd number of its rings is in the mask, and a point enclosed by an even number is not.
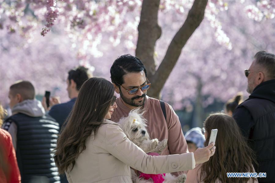
{"type": "MultiPolygon", "coordinates": [[[[110,72],[115,91],[120,94],[111,120],[118,122],[121,117],[128,116],[131,109],[141,107],[145,110],[144,117],[148,121],[150,137],[158,138],[159,141],[168,139],[167,148],[161,155],[188,152],[180,121],[172,107],[164,103],[165,119],[160,100],[146,95],[151,83],[146,77],[146,69],[141,60],[129,54],[120,56],[114,61],[110,72]]],[[[188,162],[191,160],[192,157],[188,162]]],[[[177,166],[175,163],[174,168],[177,166]]]]}

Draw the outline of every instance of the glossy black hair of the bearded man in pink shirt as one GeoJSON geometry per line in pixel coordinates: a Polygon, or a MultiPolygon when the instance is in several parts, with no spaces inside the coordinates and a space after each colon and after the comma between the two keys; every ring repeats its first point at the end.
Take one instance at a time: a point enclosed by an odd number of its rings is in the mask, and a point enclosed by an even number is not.
{"type": "MultiPolygon", "coordinates": [[[[111,80],[113,83],[123,84],[123,76],[128,73],[139,73],[144,70],[145,77],[147,72],[144,64],[138,57],[132,56],[130,54],[122,55],[117,58],[110,70],[111,80]]],[[[117,84],[116,84],[117,85],[117,84]]],[[[119,86],[119,85],[117,85],[119,86]]]]}

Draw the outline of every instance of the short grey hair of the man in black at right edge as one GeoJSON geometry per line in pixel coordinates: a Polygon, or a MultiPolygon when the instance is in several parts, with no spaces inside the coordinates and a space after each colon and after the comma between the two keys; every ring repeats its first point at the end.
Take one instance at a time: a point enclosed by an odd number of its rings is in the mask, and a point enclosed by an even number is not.
{"type": "Polygon", "coordinates": [[[260,51],[254,56],[255,63],[264,67],[267,71],[267,77],[275,79],[275,55],[265,51],[260,51]]]}

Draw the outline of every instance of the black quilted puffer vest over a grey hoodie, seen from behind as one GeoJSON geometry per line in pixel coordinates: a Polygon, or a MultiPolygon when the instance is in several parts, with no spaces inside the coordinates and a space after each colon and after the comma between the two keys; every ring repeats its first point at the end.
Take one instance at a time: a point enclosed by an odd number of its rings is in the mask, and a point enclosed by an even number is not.
{"type": "Polygon", "coordinates": [[[56,147],[59,124],[49,116],[30,117],[23,113],[6,122],[17,125],[16,158],[22,183],[59,181],[51,153],[56,147]]]}

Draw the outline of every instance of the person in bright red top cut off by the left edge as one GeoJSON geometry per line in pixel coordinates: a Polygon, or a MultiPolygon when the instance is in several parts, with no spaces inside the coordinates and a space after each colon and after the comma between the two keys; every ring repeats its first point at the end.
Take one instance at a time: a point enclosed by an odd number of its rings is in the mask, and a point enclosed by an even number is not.
{"type": "MultiPolygon", "coordinates": [[[[0,104],[0,127],[6,115],[0,104]]],[[[21,176],[9,132],[0,128],[0,182],[20,183],[21,176]]]]}

